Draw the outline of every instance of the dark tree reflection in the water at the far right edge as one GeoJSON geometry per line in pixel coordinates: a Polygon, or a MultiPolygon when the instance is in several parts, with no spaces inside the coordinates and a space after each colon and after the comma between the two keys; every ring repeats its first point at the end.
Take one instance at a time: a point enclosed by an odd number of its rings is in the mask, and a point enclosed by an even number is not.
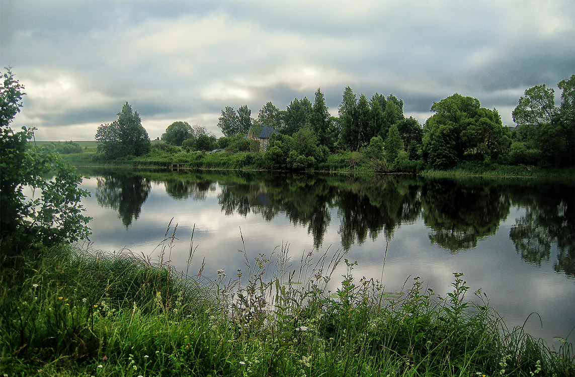
{"type": "Polygon", "coordinates": [[[551,245],[557,244],[553,269],[575,276],[575,191],[564,183],[531,187],[519,191],[516,203],[526,214],[516,220],[509,237],[523,260],[540,265],[549,260],[551,245]]]}

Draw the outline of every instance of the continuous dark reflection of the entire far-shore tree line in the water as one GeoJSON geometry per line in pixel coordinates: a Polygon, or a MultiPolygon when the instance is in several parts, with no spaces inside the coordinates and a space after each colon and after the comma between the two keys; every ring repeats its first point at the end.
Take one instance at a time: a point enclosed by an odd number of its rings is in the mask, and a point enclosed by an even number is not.
{"type": "Polygon", "coordinates": [[[128,228],[150,195],[151,182],[173,199],[204,201],[215,193],[220,211],[266,222],[281,214],[305,226],[320,248],[333,221],[344,249],[369,238],[390,240],[401,224],[423,219],[432,244],[459,253],[496,233],[511,207],[524,210],[509,238],[527,263],[540,266],[557,249],[553,268],[575,276],[575,190],[572,182],[428,179],[415,176],[99,172],[95,197],[118,211],[128,228]],[[335,224],[338,226],[338,224],[335,224]]]}

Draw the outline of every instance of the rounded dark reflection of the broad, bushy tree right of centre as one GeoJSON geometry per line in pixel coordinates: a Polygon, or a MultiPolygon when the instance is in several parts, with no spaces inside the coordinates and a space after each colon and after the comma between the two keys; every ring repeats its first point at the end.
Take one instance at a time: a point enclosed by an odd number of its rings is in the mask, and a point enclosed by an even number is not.
{"type": "Polygon", "coordinates": [[[509,214],[503,187],[482,180],[429,180],[423,189],[423,218],[432,243],[451,252],[477,246],[509,214]]]}

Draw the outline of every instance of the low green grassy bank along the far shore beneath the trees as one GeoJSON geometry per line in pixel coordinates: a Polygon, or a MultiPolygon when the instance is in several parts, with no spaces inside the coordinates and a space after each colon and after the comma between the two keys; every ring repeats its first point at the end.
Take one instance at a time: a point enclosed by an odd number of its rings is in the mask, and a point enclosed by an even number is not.
{"type": "MultiPolygon", "coordinates": [[[[264,170],[270,168],[259,152],[151,152],[141,157],[105,160],[95,152],[95,148],[82,153],[62,155],[62,159],[73,166],[83,167],[131,167],[131,168],[170,168],[172,164],[182,164],[183,170],[264,170]]],[[[417,161],[404,161],[394,169],[382,167],[381,161],[367,159],[358,152],[331,154],[313,170],[328,173],[367,173],[367,174],[420,174],[425,176],[503,176],[503,177],[548,177],[575,179],[575,168],[544,168],[537,166],[509,166],[497,163],[482,164],[464,161],[447,170],[425,168],[417,161]]]]}

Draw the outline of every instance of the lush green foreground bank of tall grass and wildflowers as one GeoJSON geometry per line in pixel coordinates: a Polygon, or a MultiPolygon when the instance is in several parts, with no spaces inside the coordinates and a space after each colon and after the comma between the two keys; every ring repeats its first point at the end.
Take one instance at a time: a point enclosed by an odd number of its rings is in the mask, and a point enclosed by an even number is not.
{"type": "MultiPolygon", "coordinates": [[[[167,232],[166,234],[170,234],[167,232]]],[[[169,257],[170,238],[160,248],[169,257]]],[[[419,278],[401,293],[356,279],[356,263],[287,251],[246,258],[234,276],[68,245],[1,241],[1,370],[17,376],[568,376],[551,351],[505,330],[460,274],[444,296],[419,278]],[[278,271],[264,278],[270,264],[278,271]],[[343,283],[327,284],[345,264],[343,283]],[[240,278],[241,277],[241,278],[240,278]]],[[[245,255],[245,253],[244,253],[245,255]]]]}

